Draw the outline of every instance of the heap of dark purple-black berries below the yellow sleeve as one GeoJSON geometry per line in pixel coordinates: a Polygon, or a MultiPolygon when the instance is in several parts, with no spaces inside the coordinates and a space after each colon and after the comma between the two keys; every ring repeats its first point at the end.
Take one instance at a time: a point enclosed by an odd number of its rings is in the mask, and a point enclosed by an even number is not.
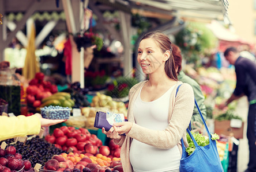
{"type": "MultiPolygon", "coordinates": [[[[25,143],[19,141],[15,143],[14,139],[7,139],[3,141],[7,146],[13,146],[16,148],[16,153],[20,154],[23,159],[30,161],[32,167],[34,167],[36,163],[43,165],[55,154],[65,153],[65,151],[60,148],[55,147],[54,144],[50,144],[46,142],[46,140],[40,139],[38,136],[28,139],[25,143]]],[[[2,144],[2,142],[0,142],[0,144],[2,144]]]]}

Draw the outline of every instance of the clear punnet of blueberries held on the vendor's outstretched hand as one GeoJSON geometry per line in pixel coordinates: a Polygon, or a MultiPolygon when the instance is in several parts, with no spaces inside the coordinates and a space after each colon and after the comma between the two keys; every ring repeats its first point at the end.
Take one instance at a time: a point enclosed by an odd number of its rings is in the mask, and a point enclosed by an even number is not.
{"type": "Polygon", "coordinates": [[[70,116],[70,108],[69,107],[60,107],[57,106],[48,106],[40,108],[41,115],[43,118],[47,119],[69,119],[70,116]]]}

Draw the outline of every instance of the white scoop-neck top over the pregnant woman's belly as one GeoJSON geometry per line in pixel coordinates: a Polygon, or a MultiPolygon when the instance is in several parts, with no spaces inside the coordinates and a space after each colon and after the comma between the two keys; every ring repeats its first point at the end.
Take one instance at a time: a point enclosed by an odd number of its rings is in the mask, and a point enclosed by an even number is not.
{"type": "MultiPolygon", "coordinates": [[[[141,90],[134,103],[135,122],[151,130],[164,130],[168,126],[168,110],[172,86],[163,96],[153,101],[142,101],[141,90]]],[[[135,172],[159,172],[179,169],[180,151],[178,146],[161,149],[133,139],[130,147],[130,162],[135,172]]]]}

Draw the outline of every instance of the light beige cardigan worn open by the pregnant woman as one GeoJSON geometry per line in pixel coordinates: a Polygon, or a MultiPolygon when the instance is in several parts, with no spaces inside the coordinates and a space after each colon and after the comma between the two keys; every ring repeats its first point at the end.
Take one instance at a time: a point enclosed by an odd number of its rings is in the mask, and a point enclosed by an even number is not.
{"type": "Polygon", "coordinates": [[[134,101],[145,82],[146,81],[142,81],[141,83],[134,85],[129,91],[129,107],[127,119],[129,122],[133,123],[131,130],[129,133],[127,133],[126,136],[122,136],[121,140],[114,140],[117,144],[122,146],[121,161],[123,171],[125,172],[133,171],[129,158],[130,143],[133,138],[142,143],[149,144],[150,146],[163,149],[172,148],[178,144],[180,152],[180,139],[183,138],[183,140],[185,140],[185,146],[187,146],[185,131],[187,126],[189,126],[194,110],[194,93],[192,87],[189,84],[178,81],[170,97],[170,109],[168,112],[169,124],[165,130],[157,131],[138,126],[138,124],[135,123],[133,116],[134,101]],[[180,84],[182,85],[180,86],[176,95],[176,88],[180,84]]]}

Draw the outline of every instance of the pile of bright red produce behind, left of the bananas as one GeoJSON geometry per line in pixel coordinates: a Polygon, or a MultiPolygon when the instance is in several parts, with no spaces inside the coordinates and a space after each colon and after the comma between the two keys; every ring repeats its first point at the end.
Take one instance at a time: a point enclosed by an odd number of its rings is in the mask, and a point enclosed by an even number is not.
{"type": "Polygon", "coordinates": [[[35,109],[42,104],[42,99],[58,92],[57,85],[44,80],[44,73],[37,72],[26,88],[26,99],[29,108],[35,109]]]}

